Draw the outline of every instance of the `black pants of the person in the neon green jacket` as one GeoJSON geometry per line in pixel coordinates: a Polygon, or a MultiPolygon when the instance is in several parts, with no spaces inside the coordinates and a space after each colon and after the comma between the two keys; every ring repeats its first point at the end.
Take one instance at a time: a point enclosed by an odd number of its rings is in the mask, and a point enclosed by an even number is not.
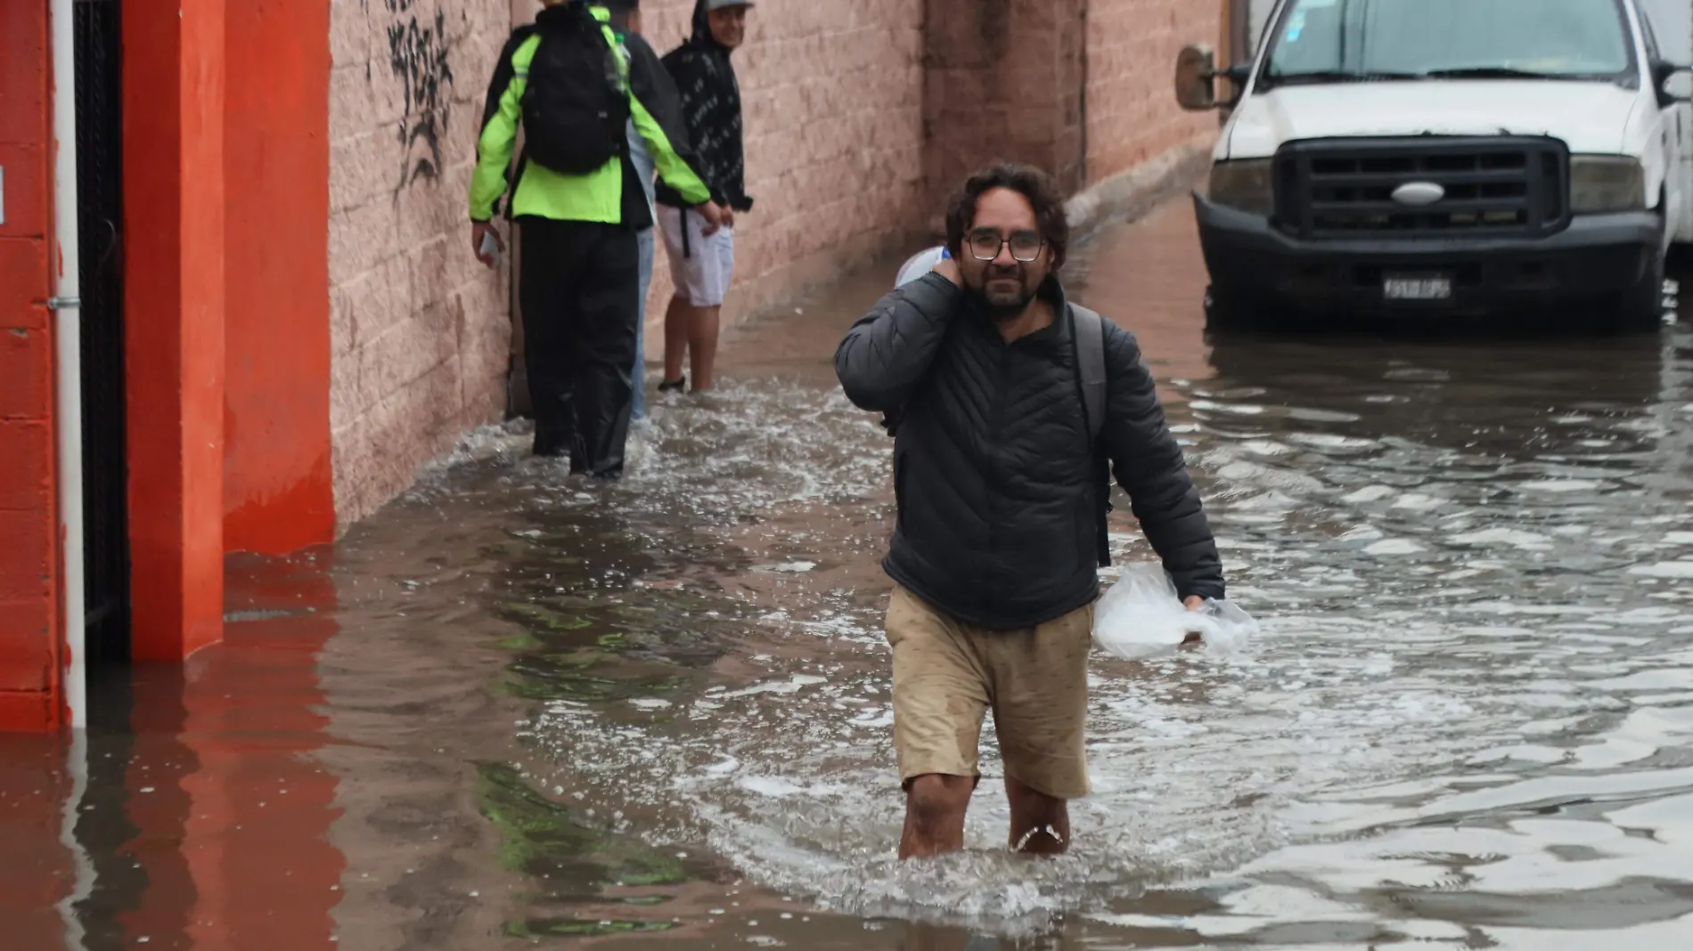
{"type": "Polygon", "coordinates": [[[535,454],[616,477],[628,442],[640,245],[623,225],[518,218],[523,362],[535,454]]]}

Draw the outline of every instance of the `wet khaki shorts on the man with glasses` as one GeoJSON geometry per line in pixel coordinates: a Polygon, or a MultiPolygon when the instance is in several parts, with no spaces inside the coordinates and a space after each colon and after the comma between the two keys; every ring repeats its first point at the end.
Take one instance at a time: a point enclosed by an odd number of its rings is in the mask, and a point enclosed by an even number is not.
{"type": "Polygon", "coordinates": [[[1094,607],[1021,631],[946,618],[902,587],[887,606],[899,778],[975,777],[994,711],[1006,775],[1055,799],[1087,795],[1087,651],[1094,607]]]}

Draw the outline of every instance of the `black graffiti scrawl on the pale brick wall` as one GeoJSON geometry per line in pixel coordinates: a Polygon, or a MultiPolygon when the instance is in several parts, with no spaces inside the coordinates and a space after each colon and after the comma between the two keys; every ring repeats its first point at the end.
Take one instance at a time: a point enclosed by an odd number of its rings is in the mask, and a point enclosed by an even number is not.
{"type": "MultiPolygon", "coordinates": [[[[381,0],[391,17],[388,24],[388,68],[400,80],[405,95],[405,118],[400,120],[400,144],[405,159],[394,191],[416,179],[435,179],[442,171],[440,140],[452,108],[452,51],[447,39],[447,14],[437,5],[435,15],[418,10],[425,0],[381,0]]],[[[438,0],[435,0],[438,2],[438,0]]],[[[433,5],[433,3],[432,3],[433,5]]]]}

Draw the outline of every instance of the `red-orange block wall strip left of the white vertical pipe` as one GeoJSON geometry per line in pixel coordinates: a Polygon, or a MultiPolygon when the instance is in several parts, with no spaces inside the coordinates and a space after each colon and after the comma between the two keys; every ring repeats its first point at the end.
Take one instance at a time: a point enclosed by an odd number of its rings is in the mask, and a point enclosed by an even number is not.
{"type": "Polygon", "coordinates": [[[59,723],[47,5],[0,3],[0,729],[59,723]]]}

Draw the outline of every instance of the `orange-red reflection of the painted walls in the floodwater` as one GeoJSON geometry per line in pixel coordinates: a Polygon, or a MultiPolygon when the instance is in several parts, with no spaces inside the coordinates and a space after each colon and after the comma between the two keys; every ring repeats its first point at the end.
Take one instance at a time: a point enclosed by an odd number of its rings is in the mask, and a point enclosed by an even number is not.
{"type": "Polygon", "coordinates": [[[19,902],[8,948],[337,946],[337,783],[312,758],[327,743],[315,662],[339,631],[334,584],[312,558],[237,563],[230,577],[235,609],[264,619],[232,623],[227,643],[183,667],[107,672],[68,751],[59,738],[3,739],[0,802],[44,785],[0,819],[5,866],[22,878],[3,888],[19,902]]]}

